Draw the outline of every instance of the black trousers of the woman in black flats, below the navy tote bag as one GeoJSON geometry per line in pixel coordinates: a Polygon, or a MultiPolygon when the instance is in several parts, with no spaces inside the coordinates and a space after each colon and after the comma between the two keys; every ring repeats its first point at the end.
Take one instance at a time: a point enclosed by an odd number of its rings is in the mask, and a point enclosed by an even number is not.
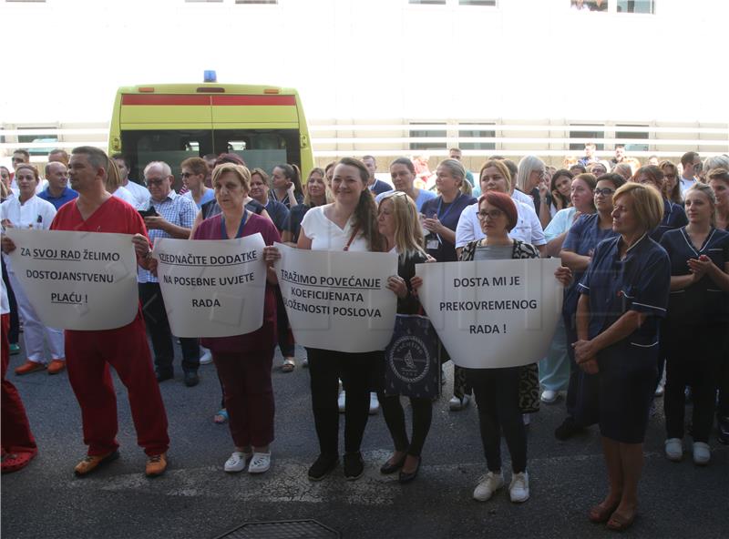
{"type": "MultiPolygon", "coordinates": [[[[349,399],[349,393],[347,393],[349,399]]],[[[430,423],[433,419],[433,402],[430,399],[417,399],[410,397],[410,408],[413,410],[413,437],[408,441],[405,411],[400,402],[400,395],[385,395],[384,392],[377,393],[382,413],[385,416],[385,423],[390,435],[395,442],[395,451],[406,451],[407,454],[419,457],[426,442],[430,423]]]]}

